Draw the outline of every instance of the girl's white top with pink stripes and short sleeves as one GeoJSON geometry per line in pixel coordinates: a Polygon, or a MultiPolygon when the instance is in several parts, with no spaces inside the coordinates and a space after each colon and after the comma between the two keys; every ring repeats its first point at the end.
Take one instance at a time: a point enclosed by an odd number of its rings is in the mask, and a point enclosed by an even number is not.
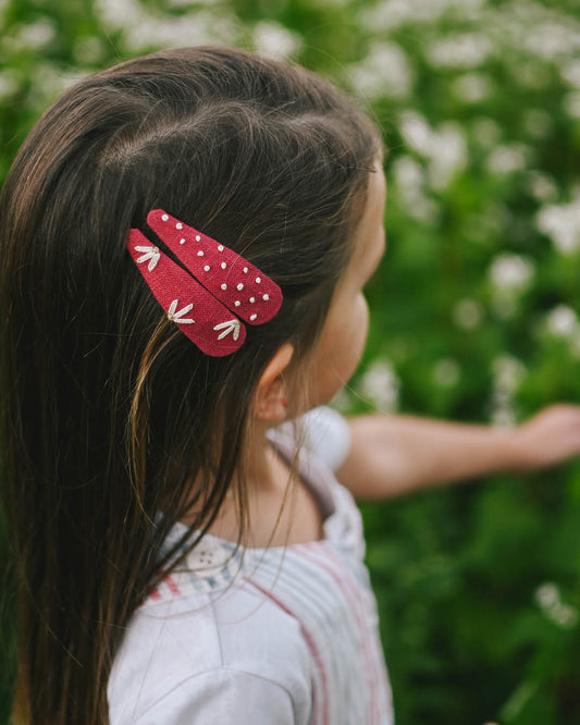
{"type": "MultiPolygon", "coordinates": [[[[336,470],[345,419],[305,416],[298,463],[323,539],[243,549],[208,534],[129,620],[108,686],[111,725],[392,725],[360,514],[336,470]]],[[[268,431],[291,460],[288,423],[268,431]]],[[[177,523],[168,544],[186,527],[177,523]]]]}

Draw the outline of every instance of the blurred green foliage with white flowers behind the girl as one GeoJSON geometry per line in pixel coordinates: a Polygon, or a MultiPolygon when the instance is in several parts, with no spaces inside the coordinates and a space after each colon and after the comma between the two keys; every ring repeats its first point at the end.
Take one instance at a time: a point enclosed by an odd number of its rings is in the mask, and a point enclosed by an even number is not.
{"type": "MultiPolygon", "coordinates": [[[[0,182],[84,74],[202,42],[296,60],[353,93],[390,148],[369,343],[333,405],[514,426],[580,402],[579,11],[577,0],[0,0],[0,182]]],[[[398,725],[580,723],[578,459],[363,516],[398,725]]],[[[0,722],[13,609],[8,598],[0,722]]]]}

